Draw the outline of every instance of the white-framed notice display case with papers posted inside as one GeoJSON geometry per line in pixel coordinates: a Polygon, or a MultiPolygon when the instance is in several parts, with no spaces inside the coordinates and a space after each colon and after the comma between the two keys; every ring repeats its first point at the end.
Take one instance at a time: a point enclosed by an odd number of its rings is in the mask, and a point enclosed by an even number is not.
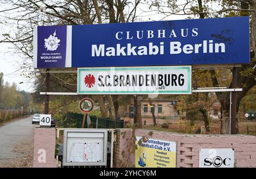
{"type": "Polygon", "coordinates": [[[63,166],[106,166],[108,129],[64,128],[63,166]]]}

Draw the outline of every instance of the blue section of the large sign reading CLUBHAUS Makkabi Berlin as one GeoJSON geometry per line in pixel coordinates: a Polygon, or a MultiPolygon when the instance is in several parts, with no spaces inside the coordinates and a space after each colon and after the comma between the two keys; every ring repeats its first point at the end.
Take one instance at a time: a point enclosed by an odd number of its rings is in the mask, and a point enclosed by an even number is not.
{"type": "Polygon", "coordinates": [[[250,63],[248,16],[67,28],[65,67],[250,63]]]}

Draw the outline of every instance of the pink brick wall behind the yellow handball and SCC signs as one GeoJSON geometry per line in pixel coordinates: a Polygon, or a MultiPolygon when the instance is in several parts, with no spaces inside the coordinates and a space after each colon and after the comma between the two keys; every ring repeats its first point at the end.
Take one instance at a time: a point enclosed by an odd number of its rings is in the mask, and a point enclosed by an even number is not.
{"type": "MultiPolygon", "coordinates": [[[[151,130],[136,130],[135,136],[146,136],[151,130]]],[[[236,167],[256,167],[256,136],[250,135],[187,135],[154,131],[148,138],[176,141],[177,167],[199,167],[200,148],[233,148],[236,167]]],[[[117,130],[115,167],[134,166],[134,153],[129,151],[133,141],[132,130],[117,130]],[[130,157],[128,158],[127,156],[130,157]]]]}

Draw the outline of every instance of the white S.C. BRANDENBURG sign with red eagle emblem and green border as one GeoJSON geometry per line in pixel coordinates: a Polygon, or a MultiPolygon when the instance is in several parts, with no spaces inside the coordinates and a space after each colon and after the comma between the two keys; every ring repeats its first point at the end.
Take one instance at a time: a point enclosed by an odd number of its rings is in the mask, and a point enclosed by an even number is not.
{"type": "Polygon", "coordinates": [[[191,94],[191,66],[78,68],[79,94],[191,94]]]}

